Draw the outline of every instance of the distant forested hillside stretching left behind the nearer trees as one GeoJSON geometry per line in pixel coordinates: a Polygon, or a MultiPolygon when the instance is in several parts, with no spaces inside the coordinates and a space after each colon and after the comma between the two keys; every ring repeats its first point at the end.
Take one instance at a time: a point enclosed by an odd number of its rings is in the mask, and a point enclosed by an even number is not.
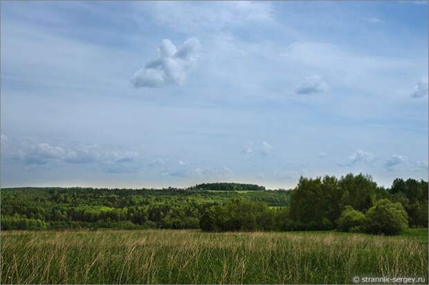
{"type": "Polygon", "coordinates": [[[239,198],[286,206],[284,190],[12,188],[1,190],[1,229],[199,228],[206,208],[239,198]]]}

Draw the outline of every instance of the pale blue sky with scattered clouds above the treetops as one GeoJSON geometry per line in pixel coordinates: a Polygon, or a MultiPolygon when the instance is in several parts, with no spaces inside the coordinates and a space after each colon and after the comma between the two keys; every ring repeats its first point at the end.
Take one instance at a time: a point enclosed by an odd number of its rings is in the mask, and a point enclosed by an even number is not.
{"type": "Polygon", "coordinates": [[[0,185],[428,179],[425,1],[1,1],[0,185]]]}

